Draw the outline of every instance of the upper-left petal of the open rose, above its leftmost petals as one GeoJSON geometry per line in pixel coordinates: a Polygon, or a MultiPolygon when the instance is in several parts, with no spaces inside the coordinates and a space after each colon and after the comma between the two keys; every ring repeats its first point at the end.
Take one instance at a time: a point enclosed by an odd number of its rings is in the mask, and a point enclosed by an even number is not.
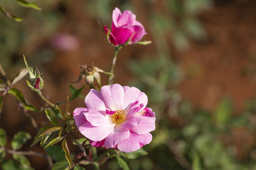
{"type": "Polygon", "coordinates": [[[105,103],[102,99],[101,92],[91,89],[84,100],[86,106],[90,110],[106,110],[105,103]]]}

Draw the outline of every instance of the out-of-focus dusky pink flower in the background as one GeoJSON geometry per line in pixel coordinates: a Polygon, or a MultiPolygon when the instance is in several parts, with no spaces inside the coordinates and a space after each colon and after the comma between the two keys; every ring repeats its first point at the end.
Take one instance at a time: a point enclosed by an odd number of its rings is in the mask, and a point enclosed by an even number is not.
{"type": "Polygon", "coordinates": [[[53,36],[50,45],[59,51],[75,51],[79,48],[80,43],[72,34],[59,33],[53,36]]]}

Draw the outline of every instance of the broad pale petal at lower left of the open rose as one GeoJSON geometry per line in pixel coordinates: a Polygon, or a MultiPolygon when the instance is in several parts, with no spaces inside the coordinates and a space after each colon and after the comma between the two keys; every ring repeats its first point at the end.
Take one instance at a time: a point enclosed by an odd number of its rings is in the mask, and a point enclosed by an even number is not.
{"type": "Polygon", "coordinates": [[[115,124],[106,124],[100,127],[95,127],[92,126],[90,122],[86,122],[78,127],[78,130],[82,135],[93,141],[101,141],[113,131],[114,127],[115,124]]]}

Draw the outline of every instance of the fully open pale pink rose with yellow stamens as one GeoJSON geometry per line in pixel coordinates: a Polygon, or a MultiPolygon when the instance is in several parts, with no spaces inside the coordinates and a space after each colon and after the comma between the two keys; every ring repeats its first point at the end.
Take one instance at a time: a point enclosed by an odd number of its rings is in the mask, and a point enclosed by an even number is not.
{"type": "Polygon", "coordinates": [[[155,113],[146,108],[147,96],[136,87],[105,85],[91,89],[85,97],[87,108],[73,112],[78,130],[94,147],[133,152],[152,140],[155,113]]]}

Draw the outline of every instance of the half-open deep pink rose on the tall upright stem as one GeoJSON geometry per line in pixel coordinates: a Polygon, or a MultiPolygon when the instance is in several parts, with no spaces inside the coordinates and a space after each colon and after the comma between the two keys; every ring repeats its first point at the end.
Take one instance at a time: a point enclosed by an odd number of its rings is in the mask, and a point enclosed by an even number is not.
{"type": "MultiPolygon", "coordinates": [[[[136,21],[136,15],[131,11],[125,10],[121,13],[119,8],[115,8],[112,14],[112,27],[110,32],[110,42],[115,46],[123,45],[129,38],[129,44],[138,42],[146,34],[144,27],[138,21],[136,21]]],[[[109,29],[104,26],[106,34],[109,29]]]]}

